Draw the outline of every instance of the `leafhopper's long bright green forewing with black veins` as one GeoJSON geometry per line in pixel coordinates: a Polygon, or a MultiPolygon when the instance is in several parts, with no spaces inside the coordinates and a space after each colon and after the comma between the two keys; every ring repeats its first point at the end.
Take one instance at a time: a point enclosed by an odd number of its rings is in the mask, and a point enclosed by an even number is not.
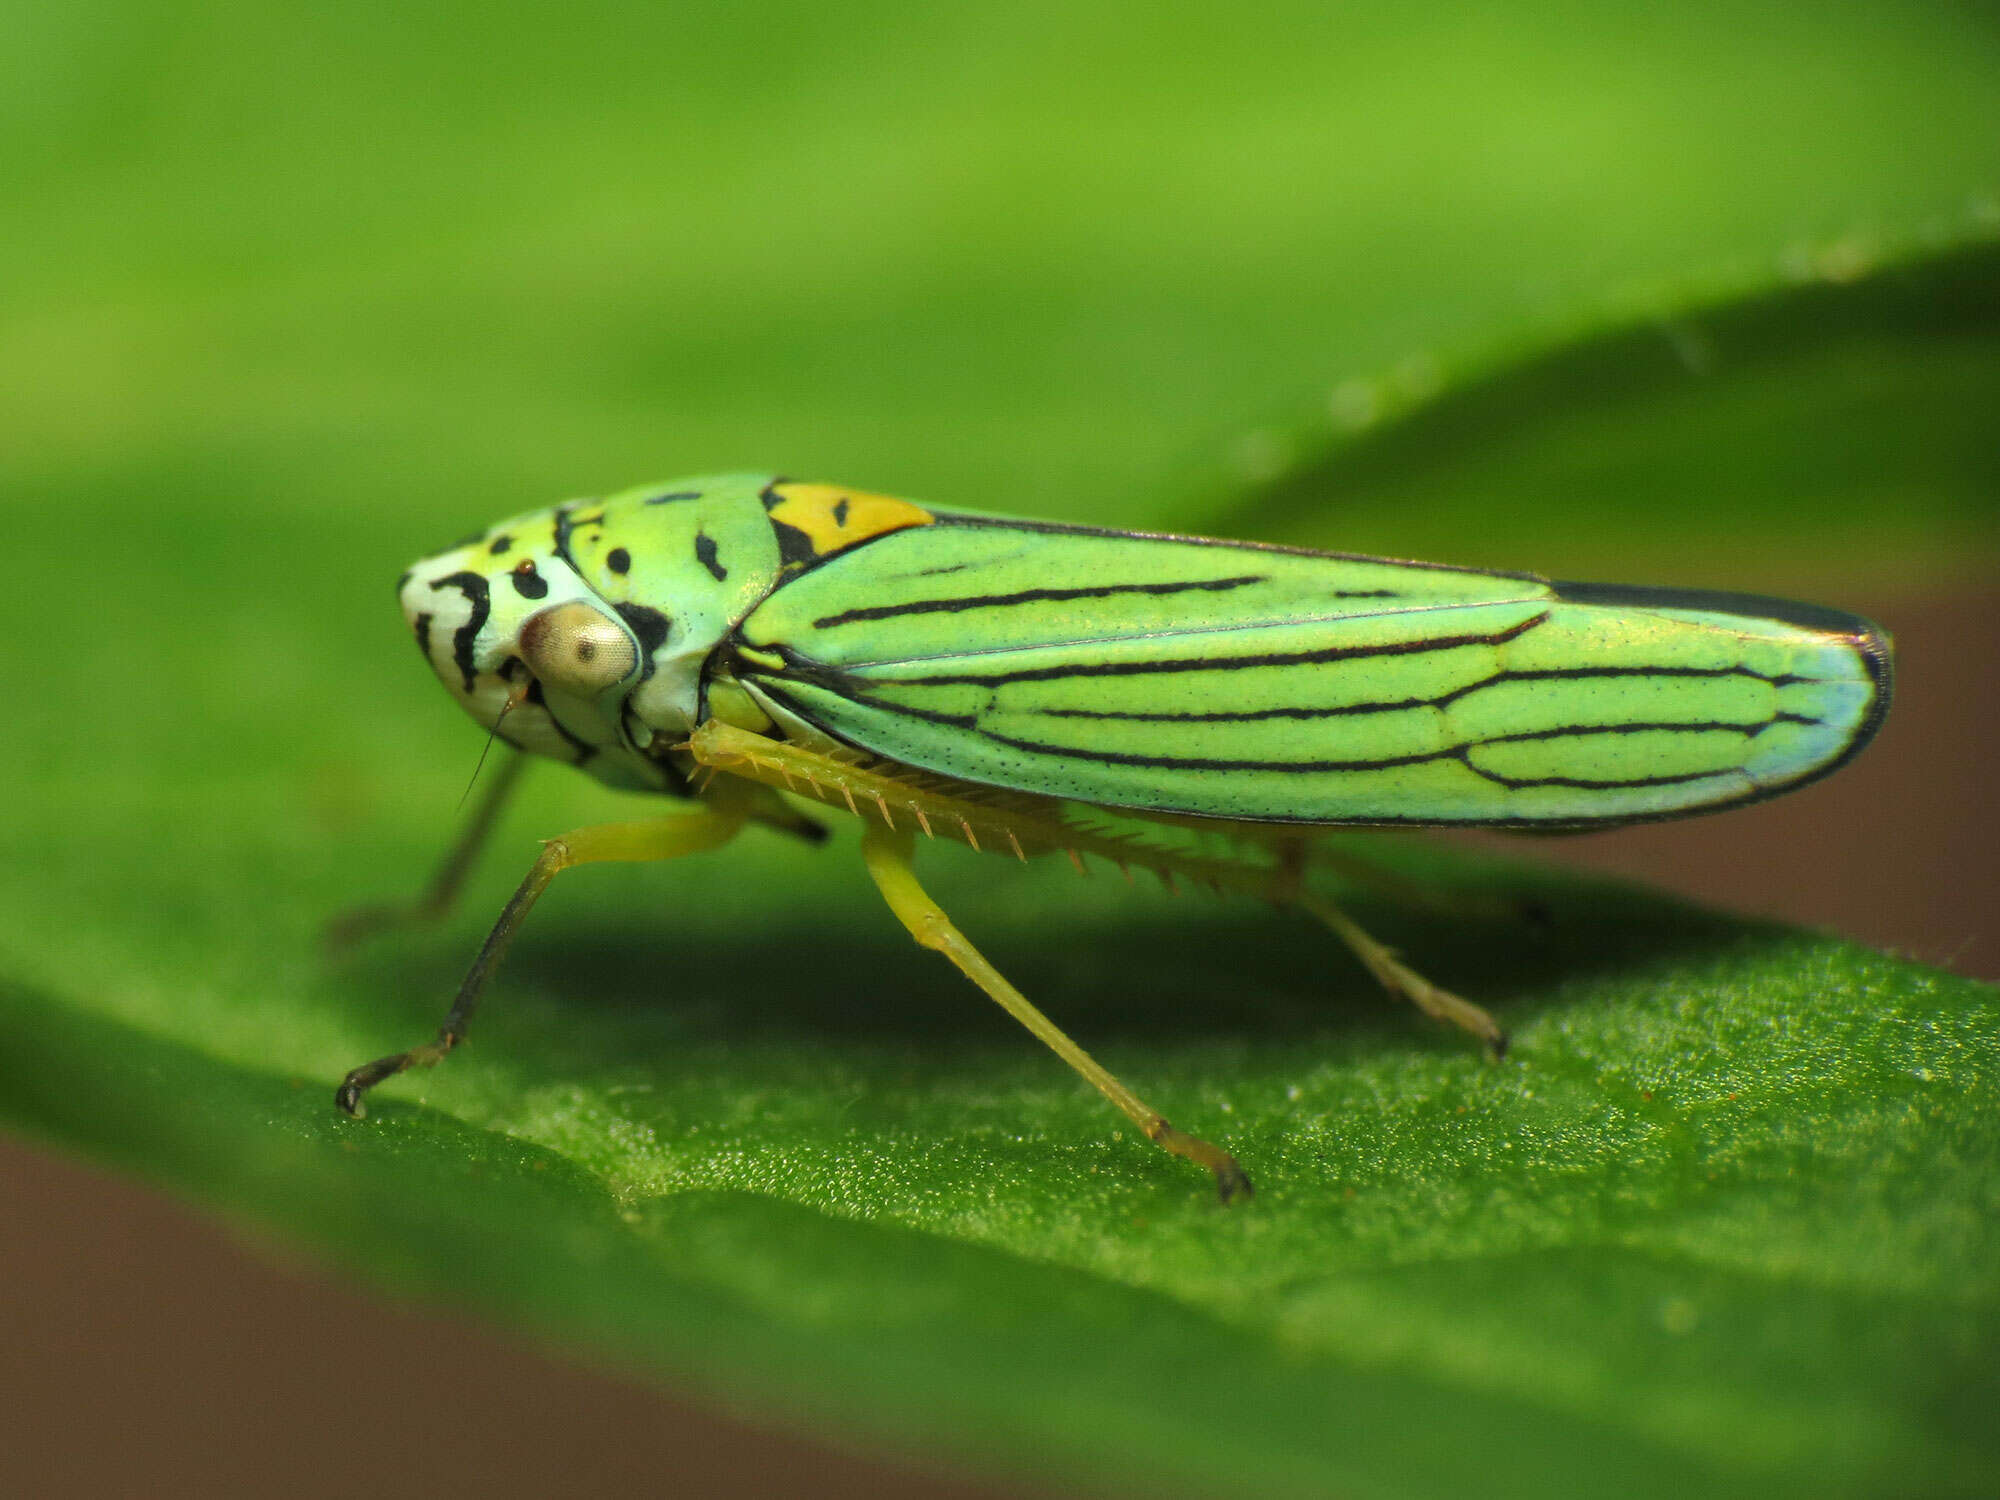
{"type": "Polygon", "coordinates": [[[968,782],[1282,822],[1578,826],[1824,774],[1886,706],[1868,622],[940,512],[782,584],[736,670],[968,782]]]}

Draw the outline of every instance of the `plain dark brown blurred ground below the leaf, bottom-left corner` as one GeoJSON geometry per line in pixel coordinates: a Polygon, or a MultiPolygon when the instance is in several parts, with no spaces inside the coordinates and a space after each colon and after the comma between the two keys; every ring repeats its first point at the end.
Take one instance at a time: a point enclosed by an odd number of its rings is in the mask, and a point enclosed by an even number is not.
{"type": "Polygon", "coordinates": [[[976,1500],[280,1270],[210,1220],[0,1138],[8,1494],[976,1500]],[[370,1326],[386,1358],[346,1368],[370,1326]]]}

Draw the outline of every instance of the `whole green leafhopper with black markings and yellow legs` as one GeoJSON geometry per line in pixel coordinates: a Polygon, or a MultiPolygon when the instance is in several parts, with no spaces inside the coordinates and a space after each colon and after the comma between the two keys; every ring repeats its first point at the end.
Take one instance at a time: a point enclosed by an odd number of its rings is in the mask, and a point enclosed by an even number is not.
{"type": "MultiPolygon", "coordinates": [[[[562,870],[696,854],[752,822],[820,840],[810,800],[860,818],[868,874],[920,944],[1224,1200],[1250,1192],[1236,1160],[986,962],[918,884],[918,838],[1294,904],[1392,994],[1500,1054],[1492,1016],[1310,886],[1316,834],[1576,830],[1756,802],[1850,760],[1890,698],[1888,638],[1808,604],[1110,532],[764,474],[516,516],[416,564],[398,594],[424,660],[494,736],[682,810],[548,840],[436,1038],[350,1072],[342,1110],[460,1042],[562,870]]],[[[426,896],[344,936],[444,910],[512,780],[490,784],[426,896]]]]}

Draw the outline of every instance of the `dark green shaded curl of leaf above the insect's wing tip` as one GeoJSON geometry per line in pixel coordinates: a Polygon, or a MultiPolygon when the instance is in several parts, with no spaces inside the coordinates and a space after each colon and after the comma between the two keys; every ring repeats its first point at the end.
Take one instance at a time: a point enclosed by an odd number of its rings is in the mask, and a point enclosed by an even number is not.
{"type": "Polygon", "coordinates": [[[2000,238],[1966,234],[1850,238],[1744,284],[1626,290],[1452,368],[1348,376],[1246,434],[1190,514],[1228,536],[1762,592],[1824,586],[1838,562],[1874,590],[1966,570],[2000,550],[2000,238]],[[1550,512],[1588,524],[1556,536],[1550,512]]]}

